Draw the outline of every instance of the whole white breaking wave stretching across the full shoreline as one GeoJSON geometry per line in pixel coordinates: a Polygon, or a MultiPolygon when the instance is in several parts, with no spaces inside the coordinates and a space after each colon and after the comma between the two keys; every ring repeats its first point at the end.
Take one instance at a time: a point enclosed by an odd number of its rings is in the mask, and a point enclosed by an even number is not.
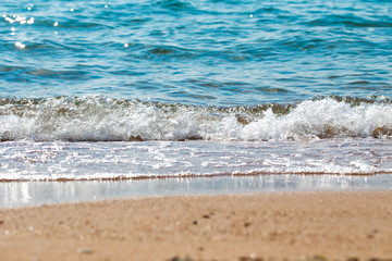
{"type": "Polygon", "coordinates": [[[196,107],[108,97],[0,100],[0,140],[309,140],[392,137],[389,99],[196,107]]]}

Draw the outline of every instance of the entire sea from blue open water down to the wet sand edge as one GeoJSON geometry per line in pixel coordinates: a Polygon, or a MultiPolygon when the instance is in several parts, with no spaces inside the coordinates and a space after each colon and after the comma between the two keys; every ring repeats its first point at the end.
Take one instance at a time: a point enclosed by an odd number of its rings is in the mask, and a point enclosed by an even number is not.
{"type": "Polygon", "coordinates": [[[391,0],[2,0],[0,207],[392,187],[391,0]]]}

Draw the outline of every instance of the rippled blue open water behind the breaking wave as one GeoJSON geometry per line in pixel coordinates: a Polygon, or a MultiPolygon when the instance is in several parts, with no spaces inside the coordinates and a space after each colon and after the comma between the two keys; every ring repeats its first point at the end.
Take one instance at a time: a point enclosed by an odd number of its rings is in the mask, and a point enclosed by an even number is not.
{"type": "Polygon", "coordinates": [[[390,0],[4,0],[0,15],[1,97],[392,97],[390,0]]]}

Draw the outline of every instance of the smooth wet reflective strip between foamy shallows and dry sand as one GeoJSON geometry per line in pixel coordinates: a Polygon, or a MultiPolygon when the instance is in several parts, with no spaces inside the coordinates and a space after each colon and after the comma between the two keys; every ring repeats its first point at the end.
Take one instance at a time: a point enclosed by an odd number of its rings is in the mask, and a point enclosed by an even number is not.
{"type": "Polygon", "coordinates": [[[390,189],[392,176],[260,175],[110,182],[0,183],[0,208],[118,198],[308,190],[390,189]]]}

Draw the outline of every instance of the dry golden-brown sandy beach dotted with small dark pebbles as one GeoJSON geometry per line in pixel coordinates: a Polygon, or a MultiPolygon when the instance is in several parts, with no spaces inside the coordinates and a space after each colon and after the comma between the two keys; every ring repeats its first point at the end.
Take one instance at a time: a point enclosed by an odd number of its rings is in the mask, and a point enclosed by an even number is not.
{"type": "Polygon", "coordinates": [[[392,191],[179,196],[0,210],[0,260],[392,259],[392,191]]]}

